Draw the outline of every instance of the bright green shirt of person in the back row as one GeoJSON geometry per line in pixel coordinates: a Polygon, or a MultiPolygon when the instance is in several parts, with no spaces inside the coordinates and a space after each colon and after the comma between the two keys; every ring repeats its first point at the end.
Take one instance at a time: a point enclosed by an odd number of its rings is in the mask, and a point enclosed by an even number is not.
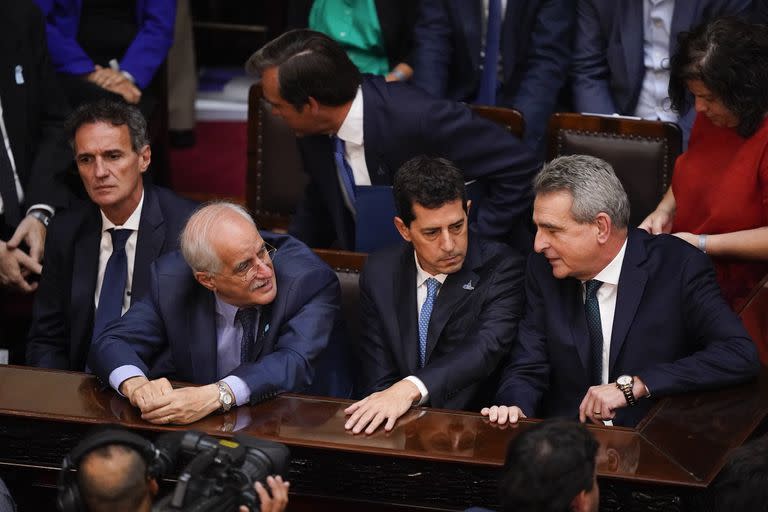
{"type": "Polygon", "coordinates": [[[389,72],[374,0],[315,0],[309,28],[341,44],[361,72],[389,72]]]}

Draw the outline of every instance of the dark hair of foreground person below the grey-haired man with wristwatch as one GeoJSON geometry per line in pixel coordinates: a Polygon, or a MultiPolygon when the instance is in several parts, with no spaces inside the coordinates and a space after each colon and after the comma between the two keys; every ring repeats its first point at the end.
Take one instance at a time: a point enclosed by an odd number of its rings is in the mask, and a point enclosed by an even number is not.
{"type": "Polygon", "coordinates": [[[566,512],[594,484],[597,441],[573,421],[549,420],[509,445],[500,483],[502,510],[566,512]]]}

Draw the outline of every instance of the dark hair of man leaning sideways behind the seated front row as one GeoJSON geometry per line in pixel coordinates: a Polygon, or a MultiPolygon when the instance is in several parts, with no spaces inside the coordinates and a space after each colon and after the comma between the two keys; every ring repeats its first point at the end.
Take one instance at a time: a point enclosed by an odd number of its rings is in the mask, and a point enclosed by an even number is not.
{"type": "Polygon", "coordinates": [[[360,70],[347,52],[330,37],[313,30],[286,32],[245,63],[245,69],[257,75],[275,66],[280,96],[297,110],[310,97],[329,106],[352,101],[362,81],[360,70]]]}

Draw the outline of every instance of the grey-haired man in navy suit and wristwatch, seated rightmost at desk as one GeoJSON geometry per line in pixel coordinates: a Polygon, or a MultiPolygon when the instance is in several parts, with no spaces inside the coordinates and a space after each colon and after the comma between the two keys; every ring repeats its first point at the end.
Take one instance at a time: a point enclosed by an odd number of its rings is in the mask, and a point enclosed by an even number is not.
{"type": "Polygon", "coordinates": [[[628,229],[613,169],[560,157],[534,180],[526,307],[491,421],[578,416],[634,425],[658,397],[748,380],[760,368],[709,258],[628,229]]]}

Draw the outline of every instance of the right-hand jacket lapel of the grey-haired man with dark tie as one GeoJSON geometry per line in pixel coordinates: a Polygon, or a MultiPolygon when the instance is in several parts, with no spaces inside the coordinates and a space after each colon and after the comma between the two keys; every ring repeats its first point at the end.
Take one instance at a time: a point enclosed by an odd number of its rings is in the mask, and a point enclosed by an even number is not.
{"type": "Polygon", "coordinates": [[[613,375],[616,360],[627,339],[627,333],[632,326],[640,300],[643,298],[645,283],[648,281],[648,273],[639,265],[645,261],[646,254],[642,242],[632,231],[627,240],[627,251],[621,266],[619,276],[619,289],[616,294],[616,309],[613,317],[613,331],[611,334],[611,356],[609,363],[609,379],[613,375]]]}

